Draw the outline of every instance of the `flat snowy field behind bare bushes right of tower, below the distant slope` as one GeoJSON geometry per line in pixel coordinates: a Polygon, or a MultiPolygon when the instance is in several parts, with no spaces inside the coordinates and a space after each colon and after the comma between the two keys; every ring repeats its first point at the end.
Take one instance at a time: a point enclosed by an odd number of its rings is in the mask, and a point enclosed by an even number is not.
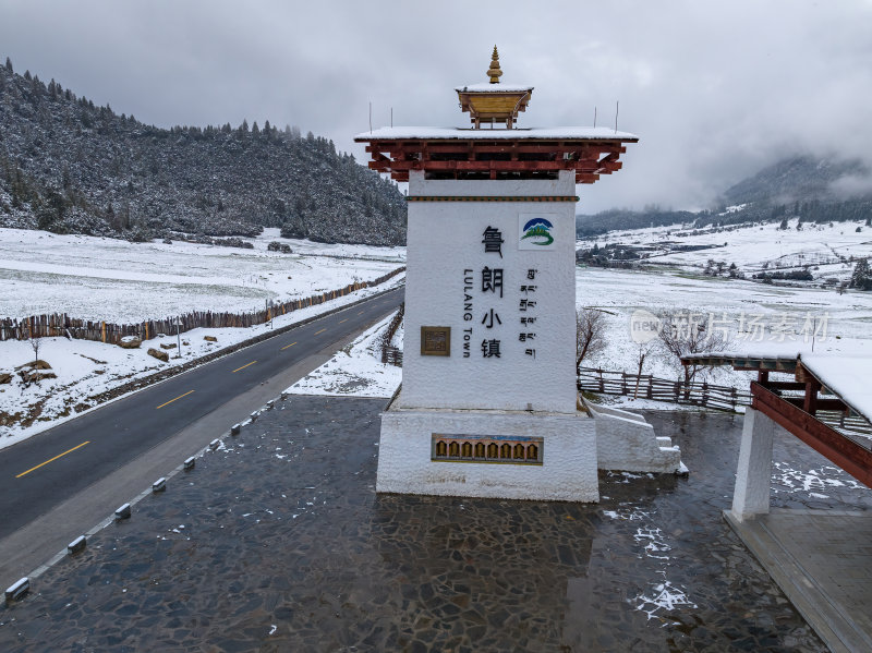
{"type": "MultiPolygon", "coordinates": [[[[813,346],[815,353],[872,354],[872,292],[839,294],[820,288],[687,276],[680,270],[579,268],[576,282],[579,306],[601,309],[608,325],[605,350],[585,359],[585,366],[637,372],[640,346],[630,331],[637,310],[655,315],[680,310],[693,313],[706,326],[711,321],[714,328],[728,329],[731,352],[795,355],[810,352],[813,346]]],[[[680,370],[654,351],[645,360],[643,374],[678,378],[680,370]]],[[[744,388],[748,379],[748,373],[722,368],[712,380],[744,388]]]]}

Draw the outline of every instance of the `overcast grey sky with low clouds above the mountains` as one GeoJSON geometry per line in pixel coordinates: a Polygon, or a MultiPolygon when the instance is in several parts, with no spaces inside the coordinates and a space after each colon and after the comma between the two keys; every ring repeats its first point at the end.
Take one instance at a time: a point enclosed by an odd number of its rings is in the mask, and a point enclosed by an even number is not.
{"type": "Polygon", "coordinates": [[[614,124],[579,210],[705,207],[797,152],[872,158],[872,0],[0,0],[0,55],[159,126],[265,120],[364,160],[374,126],[468,125],[453,87],[535,86],[520,126],[614,124]]]}

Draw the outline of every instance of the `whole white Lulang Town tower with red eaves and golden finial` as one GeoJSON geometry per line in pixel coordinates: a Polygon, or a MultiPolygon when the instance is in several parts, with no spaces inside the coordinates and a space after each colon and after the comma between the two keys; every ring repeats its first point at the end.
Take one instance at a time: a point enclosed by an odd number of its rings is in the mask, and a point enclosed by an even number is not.
{"type": "Polygon", "coordinates": [[[596,420],[577,410],[576,184],[619,170],[604,128],[518,129],[532,86],[457,88],[472,129],[356,136],[409,182],[402,386],[377,491],[598,500],[596,420]]]}

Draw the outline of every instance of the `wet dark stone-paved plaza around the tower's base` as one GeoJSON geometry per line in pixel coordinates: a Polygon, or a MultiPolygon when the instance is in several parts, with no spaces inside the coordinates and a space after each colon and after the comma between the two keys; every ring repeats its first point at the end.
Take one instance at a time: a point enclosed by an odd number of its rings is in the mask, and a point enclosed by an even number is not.
{"type": "MultiPolygon", "coordinates": [[[[0,607],[0,651],[826,650],[722,518],[740,416],[649,413],[688,479],[548,504],[377,496],[384,404],[277,402],[0,607]]],[[[797,442],[775,460],[776,507],[872,508],[797,442]]]]}

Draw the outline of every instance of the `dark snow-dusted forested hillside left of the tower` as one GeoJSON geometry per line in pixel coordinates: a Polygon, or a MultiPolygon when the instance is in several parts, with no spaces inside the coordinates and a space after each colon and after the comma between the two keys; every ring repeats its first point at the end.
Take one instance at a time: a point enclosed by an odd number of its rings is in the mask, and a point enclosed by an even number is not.
{"type": "Polygon", "coordinates": [[[0,226],[134,240],[173,231],[405,243],[396,184],[332,141],[243,122],[143,124],[0,66],[0,226]]]}

